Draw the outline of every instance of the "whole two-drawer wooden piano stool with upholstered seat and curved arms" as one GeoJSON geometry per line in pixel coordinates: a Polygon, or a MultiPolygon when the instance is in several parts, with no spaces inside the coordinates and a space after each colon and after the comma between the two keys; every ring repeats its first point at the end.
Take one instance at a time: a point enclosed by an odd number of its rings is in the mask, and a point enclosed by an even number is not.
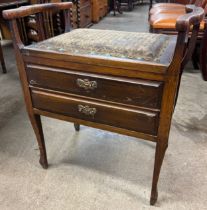
{"type": "Polygon", "coordinates": [[[40,164],[48,167],[41,116],[48,116],[156,143],[150,204],[157,201],[157,184],[168,146],[181,63],[189,54],[191,27],[194,46],[202,8],[188,8],[177,19],[177,37],[69,28],[70,3],[44,4],[5,11],[13,41],[28,115],[40,149],[40,164]],[[65,34],[25,46],[18,20],[63,10],[65,34]]]}

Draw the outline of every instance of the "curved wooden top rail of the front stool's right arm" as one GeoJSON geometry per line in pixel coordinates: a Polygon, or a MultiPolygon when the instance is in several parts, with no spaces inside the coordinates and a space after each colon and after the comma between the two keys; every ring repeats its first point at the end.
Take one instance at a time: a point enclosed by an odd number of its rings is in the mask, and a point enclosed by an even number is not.
{"type": "Polygon", "coordinates": [[[177,19],[177,31],[188,31],[192,25],[200,24],[200,22],[204,19],[204,10],[201,7],[187,5],[186,12],[188,13],[177,19]]]}

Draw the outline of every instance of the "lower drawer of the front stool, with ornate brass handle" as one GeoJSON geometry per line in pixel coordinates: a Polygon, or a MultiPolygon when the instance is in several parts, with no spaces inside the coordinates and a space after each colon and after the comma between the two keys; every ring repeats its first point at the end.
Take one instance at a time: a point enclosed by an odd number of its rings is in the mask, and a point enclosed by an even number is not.
{"type": "Polygon", "coordinates": [[[91,100],[32,90],[33,107],[76,119],[157,134],[158,113],[112,106],[91,100]]]}

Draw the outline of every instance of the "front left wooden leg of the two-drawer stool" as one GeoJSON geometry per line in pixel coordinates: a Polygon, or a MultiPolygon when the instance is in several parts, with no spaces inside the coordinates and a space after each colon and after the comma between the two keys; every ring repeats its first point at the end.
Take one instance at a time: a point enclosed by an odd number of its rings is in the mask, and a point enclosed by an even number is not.
{"type": "Polygon", "coordinates": [[[46,148],[45,148],[45,140],[44,140],[40,115],[30,115],[30,121],[32,123],[32,127],[34,129],[38,146],[39,146],[39,150],[40,150],[39,163],[44,169],[47,169],[48,168],[47,153],[46,153],[46,148]]]}

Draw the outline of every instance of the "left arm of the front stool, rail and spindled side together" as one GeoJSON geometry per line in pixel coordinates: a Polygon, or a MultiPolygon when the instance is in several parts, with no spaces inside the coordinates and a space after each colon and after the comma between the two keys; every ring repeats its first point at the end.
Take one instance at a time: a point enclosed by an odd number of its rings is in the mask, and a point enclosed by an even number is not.
{"type": "Polygon", "coordinates": [[[12,11],[24,45],[70,31],[71,2],[35,4],[12,11]],[[17,13],[16,13],[17,12],[17,13]]]}

